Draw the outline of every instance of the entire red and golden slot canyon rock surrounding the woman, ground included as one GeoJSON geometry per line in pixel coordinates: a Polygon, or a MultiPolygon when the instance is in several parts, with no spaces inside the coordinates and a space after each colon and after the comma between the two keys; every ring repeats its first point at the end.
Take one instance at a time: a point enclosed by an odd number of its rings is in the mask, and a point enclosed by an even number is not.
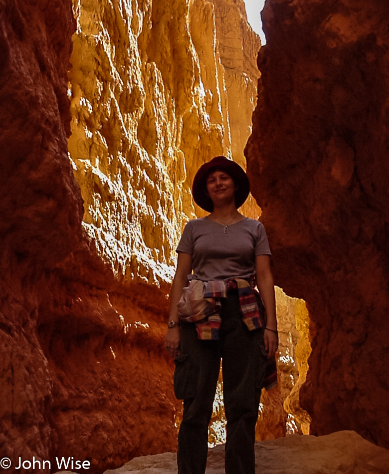
{"type": "MultiPolygon", "coordinates": [[[[6,472],[176,472],[168,295],[219,154],[247,169],[277,285],[258,472],[387,472],[388,15],[266,0],[261,46],[243,0],[0,6],[6,472]]],[[[207,474],[224,423],[218,390],[207,474]]]]}

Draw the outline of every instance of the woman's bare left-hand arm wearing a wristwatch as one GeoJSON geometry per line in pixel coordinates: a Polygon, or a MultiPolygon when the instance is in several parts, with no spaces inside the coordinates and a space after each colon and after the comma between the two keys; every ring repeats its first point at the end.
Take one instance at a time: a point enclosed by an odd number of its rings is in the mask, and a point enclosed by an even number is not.
{"type": "Polygon", "coordinates": [[[175,321],[176,326],[169,327],[165,337],[165,346],[172,357],[176,357],[180,345],[180,327],[177,303],[180,301],[183,288],[188,285],[188,275],[192,273],[192,255],[179,252],[176,274],[170,291],[169,321],[175,321]]]}

